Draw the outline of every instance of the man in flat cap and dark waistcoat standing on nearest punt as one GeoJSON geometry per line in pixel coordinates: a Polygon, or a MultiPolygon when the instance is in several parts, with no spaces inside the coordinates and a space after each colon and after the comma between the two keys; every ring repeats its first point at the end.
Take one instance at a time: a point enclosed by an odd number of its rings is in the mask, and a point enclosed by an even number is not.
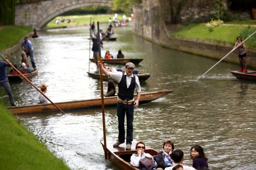
{"type": "MultiPolygon", "coordinates": [[[[98,62],[98,67],[102,67],[102,63],[98,62]]],[[[119,146],[125,142],[125,113],[127,120],[127,134],[126,134],[126,150],[131,149],[131,142],[133,141],[133,117],[134,108],[139,105],[141,97],[141,85],[139,78],[132,74],[135,69],[135,64],[128,62],[125,64],[125,72],[110,72],[102,67],[102,72],[118,82],[118,141],[113,144],[114,147],[119,146]],[[137,92],[137,99],[134,99],[134,90],[137,92]]]]}

